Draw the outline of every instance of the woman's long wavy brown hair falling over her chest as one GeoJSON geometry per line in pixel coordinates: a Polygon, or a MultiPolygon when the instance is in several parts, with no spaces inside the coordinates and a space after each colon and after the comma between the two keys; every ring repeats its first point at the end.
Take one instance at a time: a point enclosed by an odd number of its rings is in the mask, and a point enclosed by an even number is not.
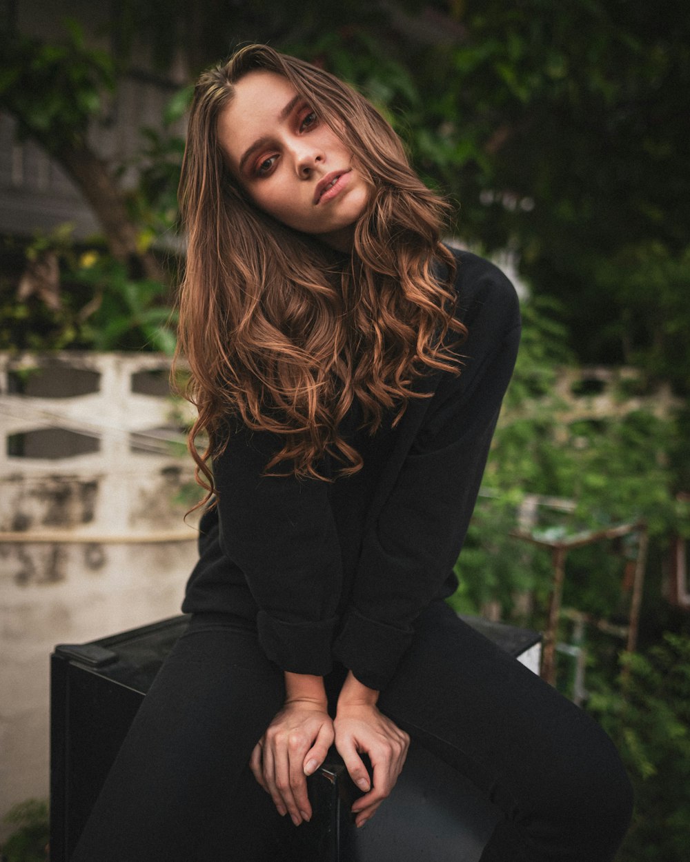
{"type": "Polygon", "coordinates": [[[416,378],[459,371],[447,339],[465,334],[455,317],[455,260],[440,242],[447,204],[411,170],[373,105],[329,72],[261,45],[204,72],[179,203],[187,253],[175,363],[184,356],[191,372],[184,394],[198,409],[189,446],[208,491],[202,503],[216,490],[210,459],[237,423],[279,435],[267,474],[328,479],[327,453],[336,475],[361,469],[339,433],[354,399],[373,434],[387,409],[395,424],[410,398],[424,397],[416,378]],[[226,165],[218,117],[256,69],[287,78],[340,135],[370,187],[346,257],[254,206],[226,165]]]}

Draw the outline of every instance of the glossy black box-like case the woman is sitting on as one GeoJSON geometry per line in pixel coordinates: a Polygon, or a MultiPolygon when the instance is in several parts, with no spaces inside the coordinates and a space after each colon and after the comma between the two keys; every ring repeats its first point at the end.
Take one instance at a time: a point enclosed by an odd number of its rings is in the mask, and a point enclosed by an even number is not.
{"type": "MultiPolygon", "coordinates": [[[[540,640],[525,629],[464,619],[516,657],[540,640]]],[[[55,647],[51,862],[70,859],[136,710],[186,625],[187,617],[177,616],[55,647]]],[[[414,744],[392,795],[364,828],[354,828],[349,809],[360,791],[335,751],[309,778],[309,794],[311,822],[281,836],[276,862],[477,862],[500,817],[473,784],[414,744]]]]}

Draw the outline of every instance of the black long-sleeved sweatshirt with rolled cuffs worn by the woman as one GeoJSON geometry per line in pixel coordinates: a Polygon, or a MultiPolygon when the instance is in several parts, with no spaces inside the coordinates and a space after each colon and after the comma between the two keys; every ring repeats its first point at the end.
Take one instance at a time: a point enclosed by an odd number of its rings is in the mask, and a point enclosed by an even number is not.
{"type": "MultiPolygon", "coordinates": [[[[332,483],[262,477],[281,443],[243,428],[215,459],[218,505],[201,520],[185,612],[255,624],[284,671],[324,675],[339,661],[373,689],[392,678],[417,616],[457,586],[467,532],[520,337],[517,296],[497,267],[455,253],[460,376],[415,384],[396,428],[376,434],[351,409],[341,432],[364,467],[332,483]]],[[[324,462],[325,469],[337,467],[324,462]]]]}

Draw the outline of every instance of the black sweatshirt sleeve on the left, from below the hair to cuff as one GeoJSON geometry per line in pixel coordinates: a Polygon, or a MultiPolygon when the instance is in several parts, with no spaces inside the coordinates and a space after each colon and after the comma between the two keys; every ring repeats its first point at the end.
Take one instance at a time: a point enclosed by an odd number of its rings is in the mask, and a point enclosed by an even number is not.
{"type": "Polygon", "coordinates": [[[276,435],[242,426],[214,459],[223,553],[240,567],[259,607],[267,657],[285,671],[331,669],[342,559],[328,483],[262,476],[276,435]]]}

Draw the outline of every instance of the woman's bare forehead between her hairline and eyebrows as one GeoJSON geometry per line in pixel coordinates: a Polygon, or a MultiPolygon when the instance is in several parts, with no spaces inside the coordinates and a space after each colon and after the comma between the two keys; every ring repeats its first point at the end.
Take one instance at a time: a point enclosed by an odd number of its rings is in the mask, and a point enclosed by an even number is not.
{"type": "Polygon", "coordinates": [[[256,69],[235,84],[235,93],[218,116],[218,141],[230,165],[237,168],[242,153],[254,141],[269,137],[285,122],[281,112],[296,95],[292,84],[277,72],[256,69]]]}

